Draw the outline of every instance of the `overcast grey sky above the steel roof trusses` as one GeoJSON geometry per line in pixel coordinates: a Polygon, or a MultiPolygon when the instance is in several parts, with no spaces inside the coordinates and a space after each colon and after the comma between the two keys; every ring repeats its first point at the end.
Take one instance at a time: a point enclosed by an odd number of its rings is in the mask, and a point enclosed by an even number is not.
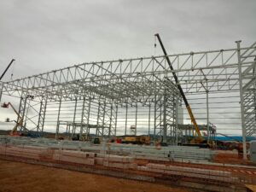
{"type": "MultiPolygon", "coordinates": [[[[87,61],[154,55],[159,32],[168,53],[256,41],[255,0],[0,0],[3,80],[87,61]]],[[[160,48],[156,54],[161,55],[160,48]]]]}

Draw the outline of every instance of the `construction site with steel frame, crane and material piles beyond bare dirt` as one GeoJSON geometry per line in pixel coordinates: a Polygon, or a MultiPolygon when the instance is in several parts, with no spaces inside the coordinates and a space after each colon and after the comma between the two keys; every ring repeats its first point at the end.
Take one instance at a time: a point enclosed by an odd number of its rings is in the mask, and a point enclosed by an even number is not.
{"type": "Polygon", "coordinates": [[[168,55],[155,38],[163,55],[1,81],[1,111],[16,115],[1,164],[177,187],[162,191],[256,191],[256,43],[168,55]]]}

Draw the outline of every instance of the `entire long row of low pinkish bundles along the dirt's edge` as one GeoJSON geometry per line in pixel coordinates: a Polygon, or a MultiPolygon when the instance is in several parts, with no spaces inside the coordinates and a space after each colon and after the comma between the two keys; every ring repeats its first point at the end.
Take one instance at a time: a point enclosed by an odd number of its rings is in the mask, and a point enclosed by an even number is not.
{"type": "MultiPolygon", "coordinates": [[[[230,172],[212,171],[189,168],[185,166],[166,166],[163,164],[148,163],[146,166],[137,166],[137,155],[101,154],[87,151],[68,150],[62,148],[47,148],[40,146],[13,145],[12,143],[0,146],[0,155],[15,156],[32,160],[51,160],[53,162],[78,164],[84,166],[104,166],[108,168],[131,169],[143,172],[157,172],[166,175],[182,175],[186,177],[207,178],[218,181],[234,182],[230,172]]],[[[150,151],[150,149],[148,149],[150,151]]],[[[134,151],[133,151],[134,153],[134,151]]],[[[141,151],[141,153],[143,153],[141,151]]],[[[152,153],[152,151],[151,151],[152,153]]],[[[157,154],[157,153],[156,153],[157,154]]],[[[140,159],[141,157],[139,157],[140,159]]]]}

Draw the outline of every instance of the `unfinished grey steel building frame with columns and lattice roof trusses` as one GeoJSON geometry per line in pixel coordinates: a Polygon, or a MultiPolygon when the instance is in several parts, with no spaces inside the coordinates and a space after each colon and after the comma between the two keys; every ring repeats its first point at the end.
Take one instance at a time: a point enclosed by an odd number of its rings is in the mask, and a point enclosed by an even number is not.
{"type": "MultiPolygon", "coordinates": [[[[219,130],[232,130],[232,124],[236,123],[236,129],[242,130],[244,142],[246,136],[256,134],[255,52],[256,43],[241,47],[237,42],[234,49],[169,55],[195,118],[200,119],[207,114],[199,121],[207,124],[208,136],[209,119],[219,130]],[[202,109],[206,110],[201,112],[202,109]],[[221,116],[211,117],[211,114],[221,113],[230,116],[224,117],[224,120],[221,116]],[[238,120],[231,122],[231,119],[238,120]]],[[[139,121],[145,117],[138,118],[138,113],[143,113],[148,117],[142,127],[148,130],[148,134],[177,143],[177,139],[173,138],[183,135],[177,125],[181,115],[177,113],[177,105],[181,105],[181,99],[172,82],[172,70],[167,65],[166,57],[160,55],[82,63],[2,82],[1,96],[21,98],[20,113],[25,116],[25,109],[32,105],[28,107],[26,102],[21,101],[33,96],[32,102],[40,105],[36,110],[37,131],[44,131],[50,104],[57,103],[56,137],[61,122],[61,104],[70,102],[73,114],[69,116],[71,119],[67,120],[67,125],[72,126],[72,134],[78,127],[80,137],[90,134],[92,129],[98,136],[115,136],[120,134],[120,127],[122,134],[128,134],[128,119],[134,121],[130,125],[137,126],[136,131],[139,131],[139,121]],[[131,114],[134,117],[129,118],[131,114]]]]}

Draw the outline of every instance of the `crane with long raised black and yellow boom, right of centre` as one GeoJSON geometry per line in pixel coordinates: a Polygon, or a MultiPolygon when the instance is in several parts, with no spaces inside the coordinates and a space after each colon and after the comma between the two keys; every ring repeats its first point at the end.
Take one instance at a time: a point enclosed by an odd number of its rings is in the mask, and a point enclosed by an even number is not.
{"type": "Polygon", "coordinates": [[[161,46],[161,48],[162,48],[162,50],[163,50],[163,52],[164,52],[164,54],[165,54],[165,56],[166,56],[166,61],[168,62],[168,65],[169,65],[169,67],[170,67],[171,70],[172,70],[172,76],[173,76],[173,78],[175,79],[175,83],[176,83],[176,85],[177,85],[177,89],[179,90],[181,96],[183,97],[183,102],[185,103],[186,108],[187,108],[187,110],[188,110],[188,112],[189,112],[190,119],[191,119],[193,125],[195,126],[195,131],[196,131],[196,133],[197,133],[197,138],[194,138],[194,139],[191,141],[191,143],[203,143],[204,139],[203,139],[203,137],[201,136],[201,132],[200,132],[199,127],[198,127],[198,125],[197,125],[197,123],[196,123],[194,114],[192,113],[192,110],[191,110],[191,108],[190,108],[190,106],[189,106],[189,102],[188,102],[188,100],[187,100],[187,98],[186,98],[186,96],[185,96],[185,94],[184,94],[184,92],[183,92],[183,89],[182,89],[181,85],[178,83],[177,75],[176,75],[176,73],[173,71],[172,63],[171,63],[171,61],[170,61],[170,59],[169,59],[169,57],[168,57],[168,55],[167,55],[167,53],[166,53],[166,49],[165,49],[165,47],[164,47],[164,45],[163,45],[163,43],[162,43],[162,41],[161,41],[161,39],[160,39],[160,35],[159,35],[158,33],[156,33],[154,36],[155,36],[156,38],[158,38],[158,41],[159,41],[159,43],[160,43],[160,46],[161,46]]]}

